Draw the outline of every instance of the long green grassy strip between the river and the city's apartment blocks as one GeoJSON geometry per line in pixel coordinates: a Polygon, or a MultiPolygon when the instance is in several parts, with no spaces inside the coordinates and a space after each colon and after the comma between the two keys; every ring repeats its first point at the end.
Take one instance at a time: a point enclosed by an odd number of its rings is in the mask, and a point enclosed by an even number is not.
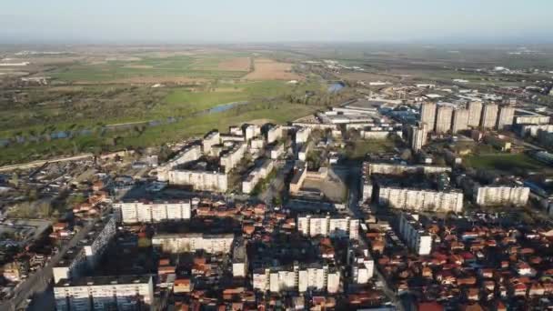
{"type": "Polygon", "coordinates": [[[123,148],[162,145],[186,137],[204,135],[217,128],[227,131],[228,126],[246,121],[266,119],[284,123],[298,117],[310,115],[317,106],[287,103],[250,104],[230,109],[226,112],[189,116],[174,124],[146,127],[142,132],[135,130],[106,132],[76,136],[71,139],[57,139],[40,143],[10,145],[0,148],[0,165],[33,161],[52,156],[72,155],[85,152],[100,153],[123,148]]]}

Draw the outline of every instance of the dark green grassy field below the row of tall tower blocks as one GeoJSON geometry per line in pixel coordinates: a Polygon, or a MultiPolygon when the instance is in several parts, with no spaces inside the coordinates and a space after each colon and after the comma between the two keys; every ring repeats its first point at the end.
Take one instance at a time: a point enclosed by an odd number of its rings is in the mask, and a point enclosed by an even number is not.
{"type": "Polygon", "coordinates": [[[506,173],[516,173],[520,170],[535,171],[548,168],[547,165],[524,154],[488,154],[467,156],[465,165],[476,169],[496,170],[506,173]]]}

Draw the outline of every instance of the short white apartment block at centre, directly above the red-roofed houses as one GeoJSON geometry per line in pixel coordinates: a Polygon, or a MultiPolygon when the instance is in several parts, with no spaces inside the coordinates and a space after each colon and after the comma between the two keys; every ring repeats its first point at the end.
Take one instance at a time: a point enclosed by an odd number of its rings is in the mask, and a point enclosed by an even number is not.
{"type": "Polygon", "coordinates": [[[298,216],[297,231],[305,236],[357,239],[359,236],[359,220],[348,216],[298,216]]]}

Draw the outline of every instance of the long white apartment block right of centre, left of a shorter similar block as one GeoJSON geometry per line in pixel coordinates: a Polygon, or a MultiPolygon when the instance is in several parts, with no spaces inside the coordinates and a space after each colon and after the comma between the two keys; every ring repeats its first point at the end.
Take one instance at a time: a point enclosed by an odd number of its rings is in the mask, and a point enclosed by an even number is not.
{"type": "Polygon", "coordinates": [[[378,204],[413,211],[459,213],[463,210],[463,193],[381,186],[378,204]]]}

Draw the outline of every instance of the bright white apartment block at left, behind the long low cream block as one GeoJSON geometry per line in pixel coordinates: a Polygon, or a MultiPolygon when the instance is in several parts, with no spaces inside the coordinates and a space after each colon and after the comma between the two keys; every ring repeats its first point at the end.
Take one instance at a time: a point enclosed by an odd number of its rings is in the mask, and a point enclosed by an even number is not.
{"type": "Polygon", "coordinates": [[[123,224],[159,223],[168,220],[190,219],[190,200],[172,202],[117,202],[114,210],[123,224]]]}

